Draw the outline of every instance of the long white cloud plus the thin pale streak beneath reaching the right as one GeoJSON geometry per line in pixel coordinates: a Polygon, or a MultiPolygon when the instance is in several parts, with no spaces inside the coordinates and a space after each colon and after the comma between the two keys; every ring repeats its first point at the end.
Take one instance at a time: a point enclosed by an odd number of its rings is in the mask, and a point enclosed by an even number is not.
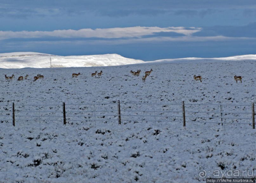
{"type": "MultiPolygon", "coordinates": [[[[252,38],[228,37],[228,36],[195,36],[193,33],[200,32],[201,28],[196,27],[125,27],[106,29],[80,29],[80,30],[54,30],[54,31],[0,31],[0,40],[10,38],[40,38],[40,43],[60,44],[136,44],[156,42],[206,42],[206,41],[234,41],[252,38]],[[180,33],[180,36],[161,36],[163,32],[180,33]],[[159,33],[159,34],[157,34],[159,33]],[[154,35],[156,34],[156,35],[154,35]],[[44,40],[45,38],[45,40],[44,40]],[[51,39],[60,38],[60,39],[51,39]],[[70,39],[61,39],[70,38],[70,39]],[[78,38],[78,39],[72,39],[78,38]],[[81,38],[81,40],[79,40],[81,38]],[[83,40],[82,38],[102,38],[83,40]],[[109,39],[108,39],[109,38],[109,39]],[[111,39],[115,38],[115,39],[111,39]],[[124,39],[123,39],[124,38],[124,39]]],[[[170,34],[171,35],[171,34],[170,34]]],[[[253,38],[254,39],[254,38],[253,38]]],[[[37,40],[27,40],[36,43],[37,40]]]]}

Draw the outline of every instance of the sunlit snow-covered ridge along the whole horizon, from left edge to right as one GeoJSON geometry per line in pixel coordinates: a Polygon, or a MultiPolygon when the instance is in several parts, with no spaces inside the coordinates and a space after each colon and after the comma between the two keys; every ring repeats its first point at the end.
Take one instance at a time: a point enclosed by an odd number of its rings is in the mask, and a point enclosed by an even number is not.
{"type": "Polygon", "coordinates": [[[38,52],[0,53],[0,68],[58,68],[58,67],[103,67],[140,63],[191,63],[218,61],[255,60],[256,55],[239,55],[222,58],[175,58],[144,62],[125,58],[118,54],[87,55],[87,56],[57,56],[38,52]],[[51,60],[50,60],[51,58],[51,60]]]}

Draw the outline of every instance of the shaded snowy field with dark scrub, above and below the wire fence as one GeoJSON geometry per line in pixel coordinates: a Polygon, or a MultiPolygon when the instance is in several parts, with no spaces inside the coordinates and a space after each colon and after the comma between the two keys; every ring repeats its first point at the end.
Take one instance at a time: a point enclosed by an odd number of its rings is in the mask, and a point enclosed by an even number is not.
{"type": "MultiPolygon", "coordinates": [[[[251,105],[256,102],[255,62],[2,68],[0,105],[81,105],[118,100],[251,105]],[[142,74],[151,68],[143,83],[142,74]],[[139,77],[130,73],[137,69],[141,70],[139,77]],[[101,77],[91,77],[96,70],[103,71],[101,77]],[[81,75],[77,78],[71,77],[78,72],[81,75]],[[4,74],[15,77],[8,81],[4,74]],[[28,80],[17,81],[26,74],[28,80]],[[37,74],[44,79],[34,82],[37,74]],[[201,75],[202,82],[195,81],[194,74],[201,75]],[[234,75],[243,76],[242,83],[236,83],[234,75]]],[[[130,108],[135,109],[133,105],[130,108]]],[[[0,182],[205,182],[200,177],[202,169],[212,178],[218,177],[216,171],[225,170],[246,171],[239,177],[256,176],[256,130],[250,125],[188,123],[183,127],[182,123],[132,120],[118,125],[118,121],[81,119],[64,126],[62,121],[46,119],[16,121],[13,127],[12,121],[0,122],[0,182]]],[[[228,177],[226,172],[223,177],[228,177]]]]}

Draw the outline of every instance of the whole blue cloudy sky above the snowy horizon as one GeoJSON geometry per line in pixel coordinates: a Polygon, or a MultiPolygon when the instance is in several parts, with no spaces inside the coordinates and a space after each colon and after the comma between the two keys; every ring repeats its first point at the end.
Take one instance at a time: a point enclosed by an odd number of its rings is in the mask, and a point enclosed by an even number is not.
{"type": "Polygon", "coordinates": [[[256,54],[255,0],[0,0],[0,53],[256,54]]]}

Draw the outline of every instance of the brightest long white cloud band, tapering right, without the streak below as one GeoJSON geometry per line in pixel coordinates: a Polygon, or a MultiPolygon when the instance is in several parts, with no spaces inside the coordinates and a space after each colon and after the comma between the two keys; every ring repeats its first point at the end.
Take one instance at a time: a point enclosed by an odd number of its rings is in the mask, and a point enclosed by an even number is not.
{"type": "Polygon", "coordinates": [[[54,30],[54,31],[0,31],[0,39],[9,38],[134,38],[153,35],[160,32],[175,32],[189,36],[199,32],[195,27],[124,27],[106,29],[54,30]]]}

